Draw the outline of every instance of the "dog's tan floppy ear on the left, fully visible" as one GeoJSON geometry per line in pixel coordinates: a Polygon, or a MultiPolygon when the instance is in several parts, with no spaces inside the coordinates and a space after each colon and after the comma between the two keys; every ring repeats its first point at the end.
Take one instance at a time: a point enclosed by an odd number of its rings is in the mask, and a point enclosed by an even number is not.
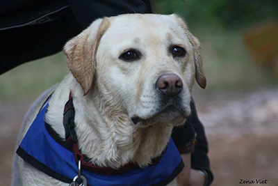
{"type": "Polygon", "coordinates": [[[76,81],[83,88],[84,95],[92,87],[96,69],[97,47],[109,24],[108,18],[96,20],[88,29],[68,41],[63,49],[67,65],[76,81]]]}

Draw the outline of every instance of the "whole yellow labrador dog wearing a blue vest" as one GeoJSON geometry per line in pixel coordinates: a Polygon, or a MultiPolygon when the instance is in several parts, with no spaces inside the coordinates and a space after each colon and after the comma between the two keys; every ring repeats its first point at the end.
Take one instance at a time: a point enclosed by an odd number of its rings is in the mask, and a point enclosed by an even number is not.
{"type": "Polygon", "coordinates": [[[70,73],[26,114],[13,185],[69,185],[79,163],[88,185],[177,185],[170,136],[190,114],[194,79],[206,86],[199,49],[177,15],[93,22],[64,47],[70,73]]]}

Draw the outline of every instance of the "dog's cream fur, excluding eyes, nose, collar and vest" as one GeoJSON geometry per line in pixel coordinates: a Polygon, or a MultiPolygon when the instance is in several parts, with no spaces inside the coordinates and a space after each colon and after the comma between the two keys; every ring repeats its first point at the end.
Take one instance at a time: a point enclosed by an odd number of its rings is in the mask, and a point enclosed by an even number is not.
{"type": "MultiPolygon", "coordinates": [[[[71,72],[51,89],[55,91],[45,118],[64,137],[63,108],[71,91],[79,147],[99,166],[118,168],[128,162],[147,166],[167,146],[172,128],[190,114],[195,70],[198,84],[206,86],[199,42],[177,15],[135,14],[96,20],[67,42],[64,52],[71,72]],[[184,47],[186,56],[174,59],[169,53],[173,44],[184,47]],[[119,59],[126,49],[138,49],[140,60],[119,59]],[[168,73],[183,81],[183,114],[159,112],[154,83],[168,73]],[[133,116],[144,120],[134,125],[133,116]]],[[[26,115],[19,142],[51,91],[26,115]]],[[[68,184],[50,178],[16,155],[13,185],[68,184]]],[[[177,180],[170,185],[177,185],[177,180]]]]}

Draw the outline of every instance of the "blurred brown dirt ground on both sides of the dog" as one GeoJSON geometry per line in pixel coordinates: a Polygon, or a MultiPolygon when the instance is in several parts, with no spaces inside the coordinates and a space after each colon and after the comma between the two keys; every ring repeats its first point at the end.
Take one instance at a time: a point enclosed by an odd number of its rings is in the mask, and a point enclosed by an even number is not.
{"type": "MultiPolygon", "coordinates": [[[[193,93],[209,143],[213,185],[278,185],[278,88],[193,93]]],[[[17,133],[32,100],[0,100],[0,185],[10,185],[17,133]]]]}

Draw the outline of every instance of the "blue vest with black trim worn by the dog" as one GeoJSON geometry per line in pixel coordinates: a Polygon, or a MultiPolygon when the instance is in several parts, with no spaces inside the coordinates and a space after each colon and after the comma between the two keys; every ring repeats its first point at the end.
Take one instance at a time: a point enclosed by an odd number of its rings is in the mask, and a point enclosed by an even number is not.
{"type": "MultiPolygon", "coordinates": [[[[33,121],[17,149],[17,155],[49,176],[64,183],[72,183],[78,173],[78,167],[73,153],[51,135],[50,125],[44,123],[47,107],[48,104],[44,104],[33,121]]],[[[183,166],[179,151],[171,138],[165,153],[155,165],[116,175],[104,175],[83,169],[82,175],[87,178],[88,185],[167,185],[179,175],[183,166]]]]}

